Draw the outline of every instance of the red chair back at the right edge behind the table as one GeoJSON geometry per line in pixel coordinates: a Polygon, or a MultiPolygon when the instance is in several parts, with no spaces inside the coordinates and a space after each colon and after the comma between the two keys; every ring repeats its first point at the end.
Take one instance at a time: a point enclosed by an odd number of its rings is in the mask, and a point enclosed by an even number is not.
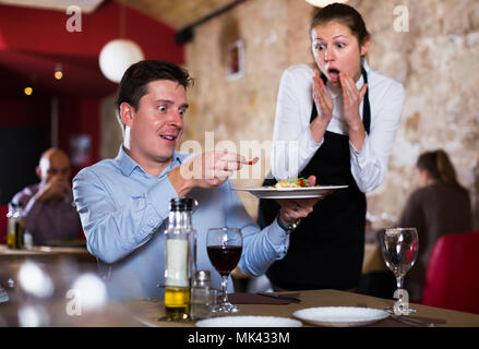
{"type": "Polygon", "coordinates": [[[479,314],[479,231],[447,234],[429,258],[422,304],[479,314]]]}

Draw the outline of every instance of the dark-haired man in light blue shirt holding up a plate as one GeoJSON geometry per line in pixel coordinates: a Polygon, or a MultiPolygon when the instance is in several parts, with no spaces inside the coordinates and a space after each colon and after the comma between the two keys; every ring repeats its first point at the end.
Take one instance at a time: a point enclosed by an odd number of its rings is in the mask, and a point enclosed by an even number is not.
{"type": "MultiPolygon", "coordinates": [[[[192,217],[197,231],[197,268],[214,270],[212,285],[216,288],[219,274],[206,254],[208,228],[240,228],[243,251],[239,267],[256,276],[284,257],[289,226],[306,217],[318,201],[303,200],[300,212],[284,201],[278,218],[261,231],[228,179],[248,163],[243,156],[176,151],[188,120],[185,92],[191,83],[188,72],[172,63],[145,60],[131,65],[116,100],[124,135],[118,156],[83,169],[73,179],[87,249],[99,260],[111,298],[160,294],[171,198],[189,196],[199,202],[192,217]],[[183,176],[189,172],[193,176],[183,176]]],[[[229,286],[231,291],[232,282],[229,286]]]]}

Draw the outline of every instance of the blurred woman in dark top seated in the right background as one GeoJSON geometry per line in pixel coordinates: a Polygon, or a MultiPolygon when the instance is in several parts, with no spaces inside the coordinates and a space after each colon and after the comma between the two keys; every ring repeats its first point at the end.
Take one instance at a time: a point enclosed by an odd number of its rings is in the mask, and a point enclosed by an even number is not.
{"type": "Polygon", "coordinates": [[[419,236],[418,256],[405,278],[411,302],[422,299],[426,269],[435,242],[445,234],[472,230],[469,193],[457,181],[444,151],[426,152],[418,157],[416,182],[418,189],[408,197],[397,222],[398,227],[415,227],[419,236]]]}

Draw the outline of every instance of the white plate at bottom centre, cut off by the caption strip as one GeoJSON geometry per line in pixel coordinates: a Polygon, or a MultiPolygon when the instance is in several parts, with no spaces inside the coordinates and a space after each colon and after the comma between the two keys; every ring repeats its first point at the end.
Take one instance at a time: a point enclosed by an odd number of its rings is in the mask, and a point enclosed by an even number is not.
{"type": "Polygon", "coordinates": [[[199,327],[301,327],[300,321],[277,316],[218,316],[201,320],[199,327]]]}

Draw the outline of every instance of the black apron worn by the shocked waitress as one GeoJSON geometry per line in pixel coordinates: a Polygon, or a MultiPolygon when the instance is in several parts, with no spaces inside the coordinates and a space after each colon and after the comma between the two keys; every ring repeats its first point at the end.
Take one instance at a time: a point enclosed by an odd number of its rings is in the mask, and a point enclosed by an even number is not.
{"type": "MultiPolygon", "coordinates": [[[[364,83],[368,76],[362,70],[364,83]]],[[[323,77],[323,76],[322,76],[323,77]]],[[[323,77],[323,81],[325,76],[323,77]]],[[[318,116],[313,103],[311,121],[318,116]]],[[[369,134],[371,111],[368,91],[362,122],[369,134]]],[[[316,177],[316,184],[347,184],[319,201],[313,212],[290,234],[285,258],[266,275],[274,287],[290,290],[339,289],[358,286],[364,254],[366,195],[351,174],[349,136],[326,131],[324,142],[299,177],[316,177]]],[[[276,181],[265,180],[263,185],[276,181]]],[[[259,225],[264,228],[278,215],[274,200],[260,200],[259,225]]]]}

